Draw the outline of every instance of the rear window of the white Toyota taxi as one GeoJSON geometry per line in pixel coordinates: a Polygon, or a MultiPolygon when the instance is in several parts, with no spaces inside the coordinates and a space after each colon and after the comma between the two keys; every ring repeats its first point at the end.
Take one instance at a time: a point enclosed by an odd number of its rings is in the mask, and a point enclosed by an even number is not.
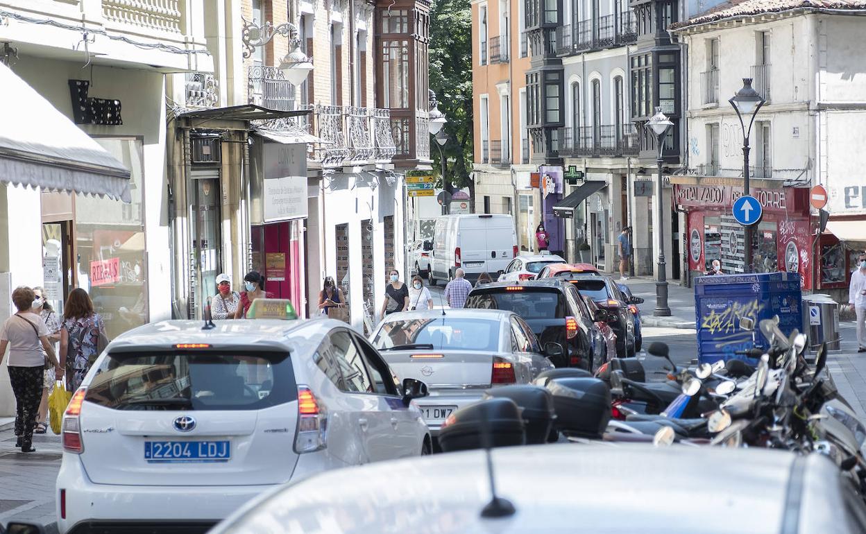
{"type": "Polygon", "coordinates": [[[254,410],[297,395],[288,354],[171,351],[108,354],[84,398],[111,409],[254,410]]]}

